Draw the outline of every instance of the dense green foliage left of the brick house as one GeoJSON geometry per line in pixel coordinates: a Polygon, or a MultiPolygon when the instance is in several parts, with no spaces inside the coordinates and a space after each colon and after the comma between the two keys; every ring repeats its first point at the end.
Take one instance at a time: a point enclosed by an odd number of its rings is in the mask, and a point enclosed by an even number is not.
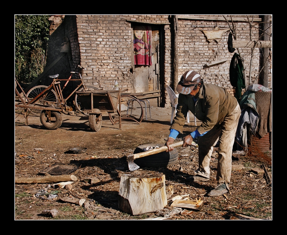
{"type": "Polygon", "coordinates": [[[46,65],[49,15],[15,15],[15,78],[31,83],[46,65]]]}

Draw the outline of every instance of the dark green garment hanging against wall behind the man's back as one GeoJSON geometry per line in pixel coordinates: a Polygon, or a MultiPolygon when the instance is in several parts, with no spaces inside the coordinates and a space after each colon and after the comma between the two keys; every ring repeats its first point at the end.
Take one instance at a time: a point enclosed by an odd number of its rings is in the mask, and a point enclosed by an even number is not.
{"type": "Polygon", "coordinates": [[[245,88],[245,81],[243,76],[243,64],[237,53],[232,56],[229,67],[229,79],[233,87],[235,87],[235,98],[238,103],[241,99],[241,88],[245,88]]]}

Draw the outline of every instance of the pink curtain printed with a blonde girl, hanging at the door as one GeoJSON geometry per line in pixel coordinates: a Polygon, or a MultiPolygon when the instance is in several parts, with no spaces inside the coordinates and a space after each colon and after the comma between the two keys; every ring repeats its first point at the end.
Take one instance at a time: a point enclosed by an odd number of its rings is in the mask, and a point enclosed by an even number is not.
{"type": "Polygon", "coordinates": [[[150,26],[136,26],[133,32],[133,53],[135,64],[152,65],[152,31],[150,26]]]}

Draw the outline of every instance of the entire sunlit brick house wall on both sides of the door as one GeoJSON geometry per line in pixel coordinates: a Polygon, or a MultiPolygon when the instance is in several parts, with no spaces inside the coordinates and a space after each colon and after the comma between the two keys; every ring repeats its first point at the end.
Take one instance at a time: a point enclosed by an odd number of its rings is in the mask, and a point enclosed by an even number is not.
{"type": "MultiPolygon", "coordinates": [[[[191,15],[189,15],[191,16],[191,15]]],[[[222,17],[222,15],[205,15],[205,17],[222,17]]],[[[234,15],[243,17],[242,15],[234,15]]],[[[258,15],[255,17],[258,18],[258,15]]],[[[171,30],[168,15],[76,15],[77,34],[81,65],[85,68],[86,81],[99,88],[112,89],[115,80],[121,89],[132,91],[132,35],[131,24],[152,23],[164,25],[164,62],[161,66],[161,77],[165,84],[171,80],[171,30]]],[[[249,24],[242,20],[234,21],[237,40],[250,40],[249,24]]],[[[226,88],[230,93],[234,89],[229,81],[230,60],[234,53],[228,52],[227,39],[229,32],[222,35],[222,40],[207,42],[201,30],[212,30],[215,26],[224,28],[228,24],[222,19],[186,19],[179,17],[179,77],[186,70],[197,70],[207,83],[226,88]],[[223,64],[204,67],[205,64],[227,59],[223,64]]],[[[227,29],[227,28],[226,28],[227,29]]],[[[258,37],[258,30],[252,29],[252,39],[258,37]]],[[[235,51],[237,52],[237,51],[235,51]]],[[[246,76],[249,80],[251,49],[242,48],[246,65],[246,76]]],[[[260,70],[259,49],[254,49],[251,82],[260,70]]],[[[271,73],[270,73],[271,87],[271,73]]],[[[256,83],[256,82],[255,82],[256,83]]],[[[166,103],[169,105],[169,101],[166,103]]]]}

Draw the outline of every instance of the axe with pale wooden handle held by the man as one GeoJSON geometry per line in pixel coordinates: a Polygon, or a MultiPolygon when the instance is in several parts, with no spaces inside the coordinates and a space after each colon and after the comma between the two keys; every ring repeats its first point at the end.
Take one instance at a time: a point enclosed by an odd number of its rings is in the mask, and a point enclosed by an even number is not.
{"type": "MultiPolygon", "coordinates": [[[[177,148],[177,147],[180,147],[182,145],[183,145],[183,140],[180,141],[180,142],[171,144],[170,147],[177,148]]],[[[152,154],[164,152],[166,150],[168,150],[168,147],[167,146],[162,146],[160,148],[154,148],[154,149],[151,149],[151,150],[148,150],[148,151],[145,151],[145,152],[140,152],[140,153],[136,153],[136,154],[129,154],[127,156],[127,162],[128,162],[128,165],[129,165],[129,170],[130,171],[135,171],[135,170],[139,169],[139,166],[137,164],[135,164],[133,162],[133,160],[135,160],[137,158],[150,156],[152,154]]]]}

